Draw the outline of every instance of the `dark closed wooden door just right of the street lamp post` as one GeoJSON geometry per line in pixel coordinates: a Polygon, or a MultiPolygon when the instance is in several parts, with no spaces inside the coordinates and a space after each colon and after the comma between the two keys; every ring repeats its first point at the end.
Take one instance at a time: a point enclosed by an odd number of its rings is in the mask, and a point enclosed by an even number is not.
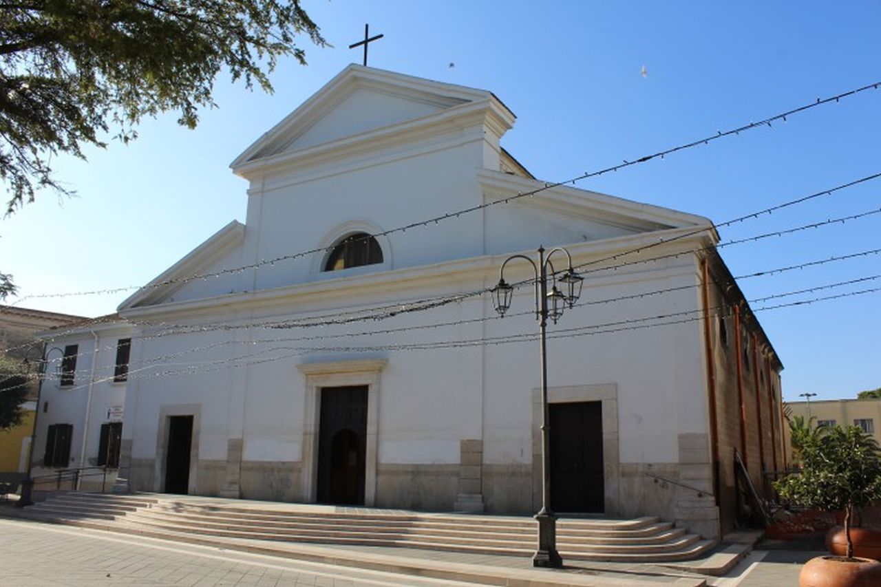
{"type": "Polygon", "coordinates": [[[603,404],[552,404],[551,508],[603,512],[603,404]]]}

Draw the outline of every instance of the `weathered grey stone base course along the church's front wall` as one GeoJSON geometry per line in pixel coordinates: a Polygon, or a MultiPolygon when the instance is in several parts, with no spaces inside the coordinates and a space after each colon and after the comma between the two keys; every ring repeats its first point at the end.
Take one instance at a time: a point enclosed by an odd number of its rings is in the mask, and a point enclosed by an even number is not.
{"type": "MultiPolygon", "coordinates": [[[[707,539],[719,538],[712,464],[707,435],[679,435],[678,463],[619,463],[613,483],[606,484],[606,513],[611,516],[659,516],[707,539]]],[[[534,513],[535,471],[532,464],[478,464],[482,444],[463,442],[460,464],[378,464],[379,508],[453,511],[463,495],[481,497],[494,514],[534,513]],[[466,491],[467,490],[467,491],[466,491]]],[[[130,458],[129,487],[161,491],[152,458],[130,458]]],[[[244,499],[307,502],[302,494],[300,462],[241,461],[236,476],[244,499]]],[[[222,495],[230,486],[227,460],[199,460],[191,492],[222,495]]]]}

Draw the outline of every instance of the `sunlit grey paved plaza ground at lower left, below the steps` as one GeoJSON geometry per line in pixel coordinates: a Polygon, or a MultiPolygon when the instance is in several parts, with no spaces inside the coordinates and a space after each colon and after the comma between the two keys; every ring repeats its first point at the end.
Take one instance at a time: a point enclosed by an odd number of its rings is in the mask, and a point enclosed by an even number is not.
{"type": "Polygon", "coordinates": [[[458,585],[112,532],[0,520],[0,585],[458,585]]]}

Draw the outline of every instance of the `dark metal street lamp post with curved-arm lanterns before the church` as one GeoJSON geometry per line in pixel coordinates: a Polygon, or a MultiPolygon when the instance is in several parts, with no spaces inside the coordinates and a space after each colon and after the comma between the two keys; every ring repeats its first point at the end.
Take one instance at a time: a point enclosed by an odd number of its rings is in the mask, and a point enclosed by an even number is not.
{"type": "Polygon", "coordinates": [[[538,548],[532,556],[532,564],[536,567],[559,568],[563,566],[563,559],[557,552],[557,516],[551,509],[551,461],[549,458],[551,427],[548,421],[548,364],[545,331],[548,318],[551,318],[553,323],[557,323],[559,317],[563,315],[566,305],[572,308],[575,301],[578,301],[584,278],[575,273],[572,268],[572,256],[569,255],[569,251],[561,247],[551,249],[546,256],[544,247],[539,247],[538,264],[528,256],[509,256],[501,264],[499,284],[493,290],[495,309],[500,316],[505,316],[505,312],[511,307],[514,286],[505,281],[504,274],[505,265],[514,259],[523,259],[532,265],[535,274],[536,319],[541,334],[539,353],[542,365],[542,509],[538,510],[535,516],[538,522],[538,548]],[[551,263],[551,256],[557,252],[566,253],[569,261],[568,269],[559,279],[557,279],[556,271],[551,263]],[[548,291],[548,267],[551,268],[550,278],[552,279],[550,292],[548,291]],[[565,291],[559,290],[558,282],[563,285],[565,291]]]}

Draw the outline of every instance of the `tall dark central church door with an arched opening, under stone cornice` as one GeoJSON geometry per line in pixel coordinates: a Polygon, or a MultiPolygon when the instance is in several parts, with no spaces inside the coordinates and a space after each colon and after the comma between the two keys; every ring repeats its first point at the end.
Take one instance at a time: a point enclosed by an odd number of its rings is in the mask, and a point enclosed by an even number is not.
{"type": "Polygon", "coordinates": [[[318,428],[318,502],[364,503],[367,386],[327,387],[318,428]]]}

